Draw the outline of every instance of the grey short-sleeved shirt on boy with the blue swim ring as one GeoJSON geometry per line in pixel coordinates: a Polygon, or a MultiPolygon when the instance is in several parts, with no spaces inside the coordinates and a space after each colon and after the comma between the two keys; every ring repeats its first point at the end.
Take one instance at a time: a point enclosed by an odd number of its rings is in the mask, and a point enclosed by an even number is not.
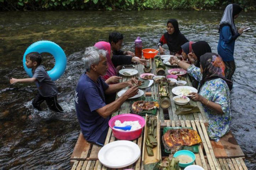
{"type": "Polygon", "coordinates": [[[56,84],[52,81],[44,66],[40,65],[35,69],[33,78],[37,79],[35,84],[38,92],[43,97],[53,97],[58,94],[56,84]]]}

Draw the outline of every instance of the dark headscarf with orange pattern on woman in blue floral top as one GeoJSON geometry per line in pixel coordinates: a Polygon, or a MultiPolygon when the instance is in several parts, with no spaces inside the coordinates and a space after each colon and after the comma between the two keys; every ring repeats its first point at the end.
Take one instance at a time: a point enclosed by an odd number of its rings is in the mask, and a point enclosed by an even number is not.
{"type": "Polygon", "coordinates": [[[198,93],[206,81],[213,79],[223,79],[227,84],[229,90],[232,90],[232,81],[226,79],[225,77],[225,64],[222,58],[216,53],[205,53],[200,57],[200,63],[203,69],[202,80],[200,81],[200,86],[198,88],[198,93]]]}

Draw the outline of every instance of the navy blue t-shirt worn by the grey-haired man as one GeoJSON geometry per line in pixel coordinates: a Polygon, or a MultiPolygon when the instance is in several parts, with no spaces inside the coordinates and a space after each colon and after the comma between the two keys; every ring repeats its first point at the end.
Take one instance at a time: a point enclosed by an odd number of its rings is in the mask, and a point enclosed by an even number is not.
{"type": "Polygon", "coordinates": [[[75,106],[81,131],[87,141],[97,143],[108,128],[109,117],[104,119],[95,110],[106,105],[104,91],[108,89],[100,77],[97,82],[83,73],[78,81],[75,94],[75,106]]]}

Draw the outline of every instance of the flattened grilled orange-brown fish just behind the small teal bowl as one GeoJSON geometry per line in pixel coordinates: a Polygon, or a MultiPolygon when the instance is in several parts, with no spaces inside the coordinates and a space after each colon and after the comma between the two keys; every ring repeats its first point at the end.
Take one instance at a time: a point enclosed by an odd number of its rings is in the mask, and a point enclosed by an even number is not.
{"type": "Polygon", "coordinates": [[[187,128],[168,130],[162,137],[166,150],[174,153],[182,149],[182,146],[192,146],[202,142],[197,131],[187,128]]]}

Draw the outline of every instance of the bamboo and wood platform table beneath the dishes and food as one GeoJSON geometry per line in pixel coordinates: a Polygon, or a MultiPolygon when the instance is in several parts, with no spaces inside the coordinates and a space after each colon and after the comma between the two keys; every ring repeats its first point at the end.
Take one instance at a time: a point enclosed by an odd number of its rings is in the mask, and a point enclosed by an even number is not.
{"type": "MultiPolygon", "coordinates": [[[[135,65],[135,69],[138,70],[138,74],[136,77],[139,77],[140,74],[144,73],[143,66],[141,64],[135,65]]],[[[166,67],[166,75],[168,75],[166,67]]],[[[152,73],[155,73],[155,66],[152,62],[152,73]]],[[[128,81],[132,77],[124,77],[122,76],[121,82],[128,81]]],[[[191,82],[189,77],[185,76],[186,81],[189,86],[191,86],[191,82]]],[[[208,125],[208,115],[204,112],[202,108],[202,104],[200,102],[190,101],[189,104],[193,106],[198,106],[200,109],[200,113],[193,113],[188,115],[179,115],[175,114],[176,108],[179,106],[176,105],[173,101],[173,94],[171,93],[171,89],[174,86],[169,87],[170,91],[170,99],[171,99],[171,107],[163,110],[159,108],[157,110],[156,115],[160,118],[161,128],[164,126],[181,126],[181,127],[192,127],[193,129],[198,131],[202,139],[202,144],[199,147],[199,153],[196,154],[195,164],[202,166],[205,170],[247,170],[245,163],[243,161],[244,154],[236,142],[236,139],[232,135],[232,133],[228,133],[225,137],[221,138],[219,143],[215,143],[210,141],[207,135],[207,125],[208,125]],[[169,119],[166,120],[166,115],[169,116],[169,119]],[[231,143],[230,143],[231,142],[231,143]]],[[[148,90],[148,89],[146,89],[148,90]]],[[[144,96],[151,96],[154,99],[159,101],[158,95],[158,86],[156,83],[153,83],[151,86],[151,90],[144,91],[144,96]]],[[[124,102],[122,106],[117,110],[117,112],[112,114],[112,117],[115,115],[130,113],[131,103],[129,100],[124,102]]],[[[138,144],[139,148],[143,148],[143,134],[134,140],[133,142],[138,144]]],[[[105,144],[116,141],[117,139],[113,136],[111,128],[108,130],[108,134],[106,137],[105,144]]],[[[82,133],[80,133],[76,146],[74,148],[73,154],[70,158],[70,163],[72,165],[72,170],[107,170],[98,160],[98,152],[101,146],[96,144],[88,143],[84,138],[82,133]]],[[[142,154],[141,157],[133,164],[122,169],[134,169],[134,170],[144,170],[142,164],[142,154]]]]}

